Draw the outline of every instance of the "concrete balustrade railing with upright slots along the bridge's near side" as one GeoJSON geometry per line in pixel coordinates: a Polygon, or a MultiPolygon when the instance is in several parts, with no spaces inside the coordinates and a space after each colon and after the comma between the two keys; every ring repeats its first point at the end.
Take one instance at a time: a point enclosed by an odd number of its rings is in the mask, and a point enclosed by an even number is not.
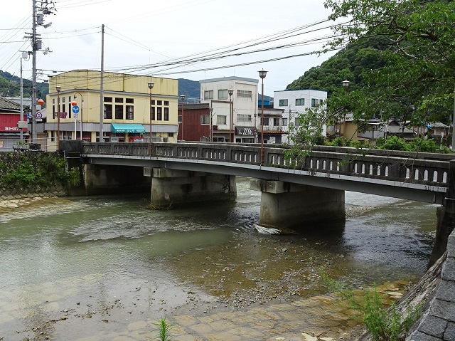
{"type": "MultiPolygon", "coordinates": [[[[261,147],[257,144],[154,143],[154,157],[203,159],[220,162],[260,164],[261,147]]],[[[449,161],[454,154],[393,152],[377,149],[317,146],[304,160],[285,157],[284,147],[264,147],[264,167],[341,174],[397,182],[412,182],[447,187],[449,161]]],[[[83,154],[129,155],[149,157],[149,144],[128,142],[82,142],[83,154]]]]}

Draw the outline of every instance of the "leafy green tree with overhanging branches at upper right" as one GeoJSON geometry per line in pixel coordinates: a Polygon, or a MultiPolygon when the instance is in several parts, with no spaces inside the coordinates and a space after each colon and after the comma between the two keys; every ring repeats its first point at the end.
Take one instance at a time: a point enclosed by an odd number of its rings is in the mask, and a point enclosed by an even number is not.
{"type": "MultiPolygon", "coordinates": [[[[384,65],[363,70],[361,87],[338,93],[331,107],[356,119],[381,115],[415,125],[449,117],[455,85],[455,2],[429,0],[326,0],[335,28],[331,47],[378,39],[384,65]],[[348,19],[348,23],[346,23],[348,19]]],[[[368,59],[368,56],[365,55],[368,59]]],[[[358,81],[358,80],[355,80],[358,81]]]]}

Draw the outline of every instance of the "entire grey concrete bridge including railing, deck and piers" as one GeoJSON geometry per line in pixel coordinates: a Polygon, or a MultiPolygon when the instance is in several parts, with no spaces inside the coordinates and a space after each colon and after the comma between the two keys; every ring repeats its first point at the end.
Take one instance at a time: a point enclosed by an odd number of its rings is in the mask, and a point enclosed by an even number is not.
{"type": "Polygon", "coordinates": [[[252,178],[250,188],[262,192],[261,226],[343,220],[348,190],[441,204],[434,261],[453,229],[454,154],[315,146],[299,159],[272,146],[264,148],[261,164],[260,145],[154,143],[150,149],[148,143],[68,140],[60,149],[68,160],[82,160],[85,193],[151,186],[151,206],[157,209],[233,201],[238,175],[252,178]]]}

